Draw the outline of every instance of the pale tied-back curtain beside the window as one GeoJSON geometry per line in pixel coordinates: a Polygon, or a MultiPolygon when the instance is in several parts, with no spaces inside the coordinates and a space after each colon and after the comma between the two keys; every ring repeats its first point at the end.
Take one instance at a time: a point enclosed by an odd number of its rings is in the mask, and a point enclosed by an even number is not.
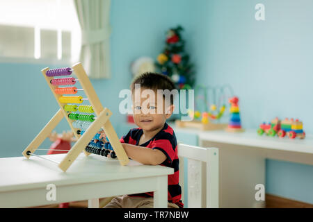
{"type": "Polygon", "coordinates": [[[74,0],[81,25],[80,62],[90,78],[110,78],[111,0],[74,0]]]}

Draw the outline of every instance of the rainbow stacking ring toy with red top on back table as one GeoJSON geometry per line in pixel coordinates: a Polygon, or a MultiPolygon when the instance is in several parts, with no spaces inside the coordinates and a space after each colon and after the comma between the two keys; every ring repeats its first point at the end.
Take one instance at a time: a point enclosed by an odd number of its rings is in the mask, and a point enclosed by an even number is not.
{"type": "Polygon", "coordinates": [[[239,110],[239,99],[234,96],[230,98],[230,121],[228,127],[225,129],[227,132],[231,133],[241,133],[243,128],[241,128],[240,110],[239,110]]]}

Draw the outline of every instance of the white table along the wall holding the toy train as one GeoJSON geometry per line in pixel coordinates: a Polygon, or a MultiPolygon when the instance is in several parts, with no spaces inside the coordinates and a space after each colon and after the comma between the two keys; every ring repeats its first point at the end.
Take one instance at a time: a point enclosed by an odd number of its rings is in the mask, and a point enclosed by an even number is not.
{"type": "Polygon", "coordinates": [[[179,132],[198,135],[199,146],[219,149],[220,207],[264,207],[264,201],[255,200],[255,185],[266,184],[266,158],[313,165],[312,135],[289,139],[259,136],[256,129],[227,133],[175,128],[179,132]]]}

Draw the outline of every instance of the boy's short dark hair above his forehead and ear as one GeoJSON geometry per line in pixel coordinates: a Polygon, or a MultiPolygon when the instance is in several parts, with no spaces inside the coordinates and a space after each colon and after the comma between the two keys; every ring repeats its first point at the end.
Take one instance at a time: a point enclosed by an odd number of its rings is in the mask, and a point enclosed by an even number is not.
{"type": "MultiPolygon", "coordinates": [[[[140,84],[143,88],[152,89],[155,91],[157,91],[157,89],[168,89],[170,92],[172,92],[173,89],[176,89],[175,84],[172,82],[170,77],[164,74],[157,74],[153,72],[145,72],[136,76],[130,85],[131,92],[134,92],[135,84],[140,84]]],[[[170,96],[170,105],[174,103],[173,97],[174,96],[170,96]]]]}

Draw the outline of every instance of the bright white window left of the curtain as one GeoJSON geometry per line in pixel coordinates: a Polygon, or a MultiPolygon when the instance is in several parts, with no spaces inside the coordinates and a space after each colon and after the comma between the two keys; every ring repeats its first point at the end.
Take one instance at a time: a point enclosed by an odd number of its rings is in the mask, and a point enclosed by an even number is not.
{"type": "Polygon", "coordinates": [[[0,0],[0,58],[79,58],[81,31],[72,0],[0,0]]]}

